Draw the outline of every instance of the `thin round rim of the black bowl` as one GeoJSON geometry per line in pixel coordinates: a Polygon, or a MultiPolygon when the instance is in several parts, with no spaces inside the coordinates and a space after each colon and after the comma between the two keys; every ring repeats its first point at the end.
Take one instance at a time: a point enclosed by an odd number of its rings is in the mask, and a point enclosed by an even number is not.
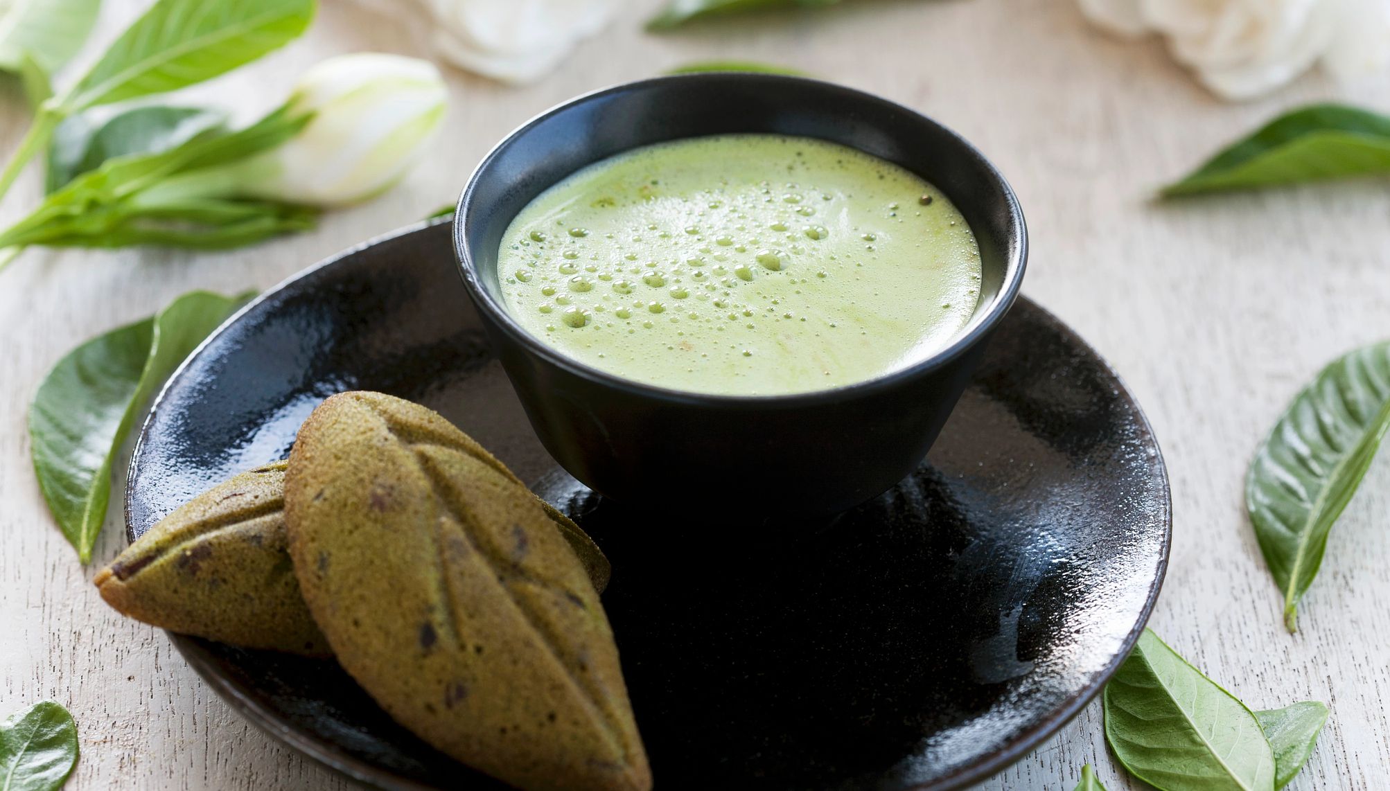
{"type": "MultiPolygon", "coordinates": [[[[753,132],[756,133],[756,132],[753,132]]],[[[671,140],[680,140],[685,138],[671,138],[671,140]]],[[[845,143],[840,143],[845,145],[845,143]]],[[[855,146],[848,146],[855,147],[855,146]]],[[[865,152],[867,153],[867,152],[865,152]]],[[[873,156],[873,154],[870,154],[873,156]]],[[[621,82],[617,85],[610,85],[607,88],[599,88],[588,93],[581,93],[573,99],[562,101],[548,110],[541,111],[528,121],[523,122],[512,132],[509,132],[502,140],[499,140],[492,149],[482,157],[478,165],[468,175],[468,181],[459,196],[459,202],[455,207],[453,214],[453,229],[452,229],[455,261],[459,267],[459,274],[463,278],[463,284],[473,297],[474,303],[478,306],[480,314],[485,314],[491,318],[493,327],[500,328],[513,342],[520,343],[531,354],[543,359],[546,363],[563,368],[571,375],[588,380],[591,382],[616,388],[624,391],[628,395],[655,398],[657,400],[664,400],[667,403],[680,405],[703,405],[703,406],[719,406],[724,409],[767,409],[769,406],[778,407],[806,407],[806,406],[824,406],[827,403],[838,403],[847,399],[869,396],[885,389],[892,389],[897,385],[905,384],[910,380],[931,374],[944,366],[954,361],[956,357],[965,354],[969,349],[983,342],[990,332],[994,329],[995,324],[1004,318],[1004,316],[1013,307],[1015,300],[1019,296],[1019,291],[1023,284],[1023,274],[1027,270],[1029,260],[1029,228],[1027,220],[1023,215],[1023,207],[1019,204],[1017,195],[1009,185],[1004,174],[991,163],[973,143],[960,136],[955,129],[933,120],[931,117],[892,101],[884,99],[876,93],[867,90],[859,90],[856,88],[849,88],[835,82],[827,82],[823,79],[815,79],[799,75],[781,75],[781,74],[762,74],[762,72],[695,72],[695,74],[673,74],[663,76],[653,76],[648,79],[638,79],[632,82],[621,82]],[[688,82],[713,82],[713,81],[728,81],[728,82],[762,82],[766,83],[769,89],[776,88],[778,83],[801,83],[809,85],[816,90],[827,93],[827,99],[834,99],[835,96],[849,96],[860,101],[872,101],[883,106],[887,110],[894,110],[898,113],[905,113],[919,122],[926,122],[938,128],[944,132],[960,152],[969,157],[973,157],[977,164],[984,170],[984,172],[994,181],[998,186],[999,195],[1004,197],[1005,210],[1008,211],[1009,220],[1017,228],[1016,238],[1006,239],[1006,261],[1004,282],[999,291],[994,295],[991,304],[986,306],[981,313],[981,307],[976,307],[976,314],[972,317],[967,327],[951,339],[949,343],[938,349],[931,356],[919,360],[910,366],[887,371],[877,377],[851,382],[847,385],[838,385],[834,388],[802,391],[792,393],[771,393],[771,395],[721,395],[721,393],[705,393],[699,391],[682,391],[677,388],[667,388],[662,385],[655,385],[649,382],[642,382],[638,380],[630,380],[627,377],[620,377],[617,374],[603,371],[594,366],[589,366],[575,357],[564,354],[559,349],[545,343],[531,332],[528,332],[516,318],[512,317],[510,311],[499,300],[493,299],[492,293],[482,285],[477,264],[473,260],[473,254],[468,252],[466,243],[466,227],[468,224],[468,213],[474,206],[474,193],[477,192],[478,181],[486,172],[489,167],[496,163],[502,153],[512,146],[521,136],[527,135],[545,121],[560,115],[574,107],[603,99],[606,96],[613,96],[619,93],[626,93],[634,89],[645,89],[652,86],[662,86],[669,83],[688,83],[688,82]]]]}

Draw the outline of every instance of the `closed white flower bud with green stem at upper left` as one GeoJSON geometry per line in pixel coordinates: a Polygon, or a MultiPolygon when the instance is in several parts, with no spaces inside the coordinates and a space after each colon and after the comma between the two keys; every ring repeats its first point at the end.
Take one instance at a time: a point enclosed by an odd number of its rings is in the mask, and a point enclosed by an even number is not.
{"type": "Polygon", "coordinates": [[[443,120],[448,90],[434,64],[357,53],[322,61],[289,104],[313,120],[245,163],[240,192],[310,206],[343,206],[396,184],[443,120]]]}

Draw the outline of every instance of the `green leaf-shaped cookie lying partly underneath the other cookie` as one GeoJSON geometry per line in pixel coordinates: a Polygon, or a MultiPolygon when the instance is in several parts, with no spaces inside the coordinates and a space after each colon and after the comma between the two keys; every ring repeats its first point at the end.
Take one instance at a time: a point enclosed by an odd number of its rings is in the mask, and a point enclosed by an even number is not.
{"type": "Polygon", "coordinates": [[[327,656],[299,595],[285,534],[285,463],[208,489],[93,580],[106,603],[170,631],[327,656]]]}

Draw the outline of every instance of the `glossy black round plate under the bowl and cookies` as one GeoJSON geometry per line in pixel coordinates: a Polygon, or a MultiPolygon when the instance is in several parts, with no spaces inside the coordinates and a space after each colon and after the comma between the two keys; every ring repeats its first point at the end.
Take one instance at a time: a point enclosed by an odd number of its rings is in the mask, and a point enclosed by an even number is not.
{"type": "MultiPolygon", "coordinates": [[[[492,360],[446,225],[352,250],[271,291],[174,377],[132,462],[131,537],[284,457],[345,389],[423,402],[575,519],[662,788],[955,788],[1033,749],[1138,637],[1169,544],[1168,480],[1105,363],[1022,300],[926,464],[784,539],[631,513],[555,468],[492,360]]],[[[737,448],[730,449],[731,453],[737,448]]],[[[826,448],[826,463],[835,449],[826,448]]],[[[498,784],[393,724],[332,662],[172,637],[232,706],[382,788],[498,784]]]]}

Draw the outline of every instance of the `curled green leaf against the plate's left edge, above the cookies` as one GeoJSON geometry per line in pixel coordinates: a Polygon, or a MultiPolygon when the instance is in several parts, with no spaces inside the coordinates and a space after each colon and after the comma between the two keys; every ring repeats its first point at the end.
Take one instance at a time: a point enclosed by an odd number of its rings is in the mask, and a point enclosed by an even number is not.
{"type": "Polygon", "coordinates": [[[189,292],[158,314],[93,338],[58,360],[29,407],[43,499],[83,563],[111,496],[111,464],[156,389],[252,295],[189,292]]]}

